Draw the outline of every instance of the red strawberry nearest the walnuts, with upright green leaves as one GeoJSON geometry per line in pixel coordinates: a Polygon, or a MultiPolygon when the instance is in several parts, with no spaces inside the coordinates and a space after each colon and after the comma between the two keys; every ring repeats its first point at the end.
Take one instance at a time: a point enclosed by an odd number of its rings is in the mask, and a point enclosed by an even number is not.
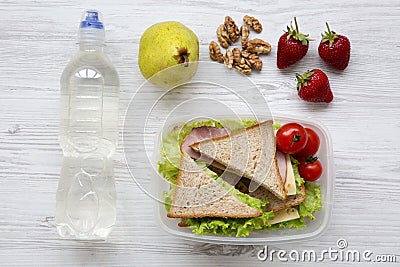
{"type": "Polygon", "coordinates": [[[308,51],[308,42],[311,41],[311,39],[308,38],[308,34],[299,32],[296,17],[294,17],[294,23],[296,29],[293,28],[292,22],[290,22],[290,28],[287,26],[287,32],[279,38],[276,61],[279,69],[284,69],[293,65],[302,59],[308,51]]]}

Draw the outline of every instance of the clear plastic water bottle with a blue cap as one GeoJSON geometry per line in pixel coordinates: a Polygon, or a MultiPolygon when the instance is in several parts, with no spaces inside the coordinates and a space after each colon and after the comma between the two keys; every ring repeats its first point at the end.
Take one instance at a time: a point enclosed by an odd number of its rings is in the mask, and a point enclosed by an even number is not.
{"type": "Polygon", "coordinates": [[[61,76],[59,141],[64,160],[57,190],[60,236],[105,239],[116,220],[113,155],[118,138],[119,78],[103,51],[98,11],[85,11],[79,51],[61,76]]]}

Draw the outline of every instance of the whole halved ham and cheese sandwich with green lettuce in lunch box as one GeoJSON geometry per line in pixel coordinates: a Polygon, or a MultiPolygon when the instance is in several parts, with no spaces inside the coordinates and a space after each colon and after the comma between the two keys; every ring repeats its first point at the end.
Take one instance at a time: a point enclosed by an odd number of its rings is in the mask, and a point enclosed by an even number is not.
{"type": "Polygon", "coordinates": [[[273,127],[204,120],[168,132],[158,163],[172,184],[164,194],[167,216],[195,234],[236,237],[306,226],[321,207],[319,186],[304,182],[298,162],[276,150],[273,127]]]}

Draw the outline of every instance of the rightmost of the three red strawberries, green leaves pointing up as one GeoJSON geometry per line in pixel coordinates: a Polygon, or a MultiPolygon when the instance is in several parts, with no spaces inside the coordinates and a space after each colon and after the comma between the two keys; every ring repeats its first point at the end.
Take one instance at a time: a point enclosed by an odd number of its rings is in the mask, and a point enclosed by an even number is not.
{"type": "Polygon", "coordinates": [[[338,70],[344,70],[349,65],[350,60],[350,41],[344,35],[339,35],[329,29],[322,35],[321,43],[318,47],[319,56],[329,65],[338,70]]]}

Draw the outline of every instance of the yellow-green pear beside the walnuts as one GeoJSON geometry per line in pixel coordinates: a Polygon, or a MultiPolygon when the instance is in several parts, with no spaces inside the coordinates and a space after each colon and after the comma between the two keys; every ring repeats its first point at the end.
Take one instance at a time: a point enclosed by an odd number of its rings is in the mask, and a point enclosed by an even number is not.
{"type": "Polygon", "coordinates": [[[173,88],[187,83],[197,71],[199,40],[176,21],[150,26],[140,38],[139,68],[151,83],[173,88]]]}

